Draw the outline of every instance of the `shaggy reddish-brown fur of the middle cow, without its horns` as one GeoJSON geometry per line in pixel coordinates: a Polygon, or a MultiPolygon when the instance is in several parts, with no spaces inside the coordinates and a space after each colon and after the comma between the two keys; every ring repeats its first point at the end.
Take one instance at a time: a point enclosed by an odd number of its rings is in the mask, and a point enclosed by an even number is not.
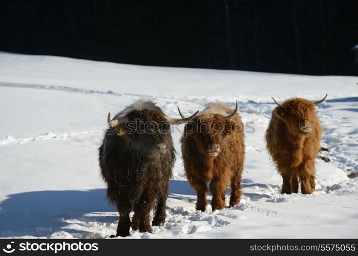
{"type": "Polygon", "coordinates": [[[210,104],[196,119],[185,125],[180,140],[181,151],[186,178],[197,193],[197,210],[205,210],[208,182],[213,195],[213,211],[225,207],[225,190],[228,184],[231,184],[230,207],[240,203],[245,153],[244,132],[239,115],[231,121],[224,120],[223,116],[231,113],[233,110],[225,105],[210,104]],[[201,127],[200,133],[196,127],[198,119],[206,123],[201,127]],[[220,133],[206,133],[214,123],[225,128],[220,133]],[[220,145],[221,152],[217,157],[208,155],[208,146],[212,144],[220,145]]]}

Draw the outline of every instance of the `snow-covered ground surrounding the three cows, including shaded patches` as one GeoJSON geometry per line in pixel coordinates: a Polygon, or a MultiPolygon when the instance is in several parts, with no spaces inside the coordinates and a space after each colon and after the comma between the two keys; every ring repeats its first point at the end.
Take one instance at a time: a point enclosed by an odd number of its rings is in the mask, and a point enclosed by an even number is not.
{"type": "MultiPolygon", "coordinates": [[[[246,133],[243,197],[234,208],[195,211],[179,138],[167,219],[129,238],[358,238],[358,78],[142,67],[52,56],[0,53],[0,237],[106,238],[118,214],[105,198],[97,148],[109,111],[145,98],[179,117],[210,102],[234,107],[246,133]],[[278,100],[328,100],[313,195],[281,195],[281,177],[264,132],[278,100]]],[[[227,191],[227,194],[229,191],[227,191]]],[[[210,199],[210,197],[208,198],[210,199]]],[[[227,202],[228,204],[228,202],[227,202]]]]}

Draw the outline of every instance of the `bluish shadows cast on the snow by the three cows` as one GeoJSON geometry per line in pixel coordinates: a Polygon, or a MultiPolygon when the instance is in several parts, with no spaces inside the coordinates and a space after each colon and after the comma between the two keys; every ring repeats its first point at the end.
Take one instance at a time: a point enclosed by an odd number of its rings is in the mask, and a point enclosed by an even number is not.
{"type": "MultiPolygon", "coordinates": [[[[243,187],[265,184],[243,184],[243,187]]],[[[228,188],[226,194],[229,195],[228,188]]],[[[256,201],[266,195],[244,193],[256,201]]],[[[187,181],[171,180],[169,198],[188,202],[196,201],[196,193],[187,181]]],[[[210,203],[210,200],[208,200],[210,203]]],[[[194,207],[194,206],[193,206],[194,207]]],[[[36,227],[52,227],[53,232],[64,230],[79,232],[66,228],[68,219],[85,222],[102,222],[111,224],[118,220],[116,207],[106,199],[106,189],[91,190],[46,190],[9,195],[0,204],[0,236],[37,236],[36,227]],[[87,216],[90,213],[98,213],[87,216]]],[[[83,231],[80,231],[83,232],[83,231]]]]}

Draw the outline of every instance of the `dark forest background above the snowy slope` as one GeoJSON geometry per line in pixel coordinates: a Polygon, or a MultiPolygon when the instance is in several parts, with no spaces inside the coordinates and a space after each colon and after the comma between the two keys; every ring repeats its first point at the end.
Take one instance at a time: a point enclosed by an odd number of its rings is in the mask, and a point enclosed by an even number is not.
{"type": "Polygon", "coordinates": [[[358,75],[357,0],[1,0],[0,51],[358,75]]]}

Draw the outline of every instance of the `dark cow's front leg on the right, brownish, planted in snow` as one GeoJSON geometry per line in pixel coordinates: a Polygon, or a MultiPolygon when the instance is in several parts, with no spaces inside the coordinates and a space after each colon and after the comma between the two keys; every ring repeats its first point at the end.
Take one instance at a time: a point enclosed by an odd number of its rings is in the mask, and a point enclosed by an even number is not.
{"type": "Polygon", "coordinates": [[[150,223],[150,211],[153,208],[154,197],[153,191],[145,189],[140,196],[138,203],[138,218],[139,218],[139,232],[152,233],[152,227],[150,223]]]}

